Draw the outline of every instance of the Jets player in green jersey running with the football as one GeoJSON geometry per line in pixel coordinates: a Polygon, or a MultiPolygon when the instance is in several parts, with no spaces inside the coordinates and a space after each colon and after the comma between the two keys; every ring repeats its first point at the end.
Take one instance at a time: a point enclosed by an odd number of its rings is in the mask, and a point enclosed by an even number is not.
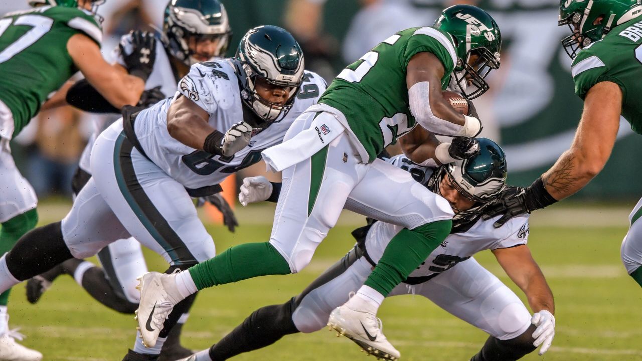
{"type": "MultiPolygon", "coordinates": [[[[426,145],[402,143],[413,161],[448,163],[476,154],[479,145],[471,138],[480,131],[479,119],[474,111],[456,112],[442,91],[453,84],[470,98],[485,92],[484,77],[499,67],[500,47],[499,28],[488,13],[457,5],[444,10],[435,26],[399,31],[344,69],[319,104],[297,118],[284,142],[262,153],[272,170],[283,171],[270,242],[232,247],[189,272],[150,272],[141,278],[137,319],[145,344],[155,344],[173,306],[198,290],[299,272],[345,205],[404,229],[358,294],[334,310],[331,319],[342,321],[332,326],[377,357],[398,358],[399,351],[381,333],[377,308],[446,238],[453,211],[444,198],[416,186],[409,173],[376,155],[417,124],[458,139],[440,145],[430,134],[426,145]]],[[[241,40],[237,56],[244,69],[266,57],[259,50],[241,40]]],[[[296,51],[282,53],[279,60],[296,64],[296,51]]],[[[284,75],[279,82],[290,80],[284,75]]],[[[262,109],[271,114],[282,107],[264,103],[262,109]]],[[[248,144],[250,132],[239,132],[238,142],[248,144]]]]}

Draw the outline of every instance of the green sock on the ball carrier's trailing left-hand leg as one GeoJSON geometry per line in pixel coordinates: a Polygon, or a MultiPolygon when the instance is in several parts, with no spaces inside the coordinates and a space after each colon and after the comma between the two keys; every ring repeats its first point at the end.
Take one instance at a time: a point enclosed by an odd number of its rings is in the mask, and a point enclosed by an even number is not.
{"type": "Polygon", "coordinates": [[[270,274],[290,274],[290,265],[270,243],[245,243],[189,268],[196,288],[270,274]]]}

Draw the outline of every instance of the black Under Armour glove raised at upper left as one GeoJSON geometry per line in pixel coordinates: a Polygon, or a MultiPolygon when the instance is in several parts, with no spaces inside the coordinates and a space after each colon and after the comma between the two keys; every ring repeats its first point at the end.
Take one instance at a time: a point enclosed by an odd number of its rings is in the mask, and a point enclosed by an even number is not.
{"type": "Polygon", "coordinates": [[[152,74],[156,61],[156,39],[153,33],[147,31],[132,31],[132,53],[127,54],[123,44],[119,44],[121,54],[125,60],[128,73],[138,76],[144,82],[152,74]]]}

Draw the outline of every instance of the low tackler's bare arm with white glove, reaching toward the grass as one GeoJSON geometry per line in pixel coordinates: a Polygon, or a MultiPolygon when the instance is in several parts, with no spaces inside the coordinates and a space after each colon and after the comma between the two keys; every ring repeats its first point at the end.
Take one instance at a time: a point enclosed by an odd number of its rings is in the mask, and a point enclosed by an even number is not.
{"type": "Polygon", "coordinates": [[[553,292],[546,283],[546,278],[533,259],[528,246],[494,249],[493,254],[499,265],[512,281],[524,292],[534,314],[531,323],[537,326],[533,331],[533,345],[538,347],[539,355],[550,348],[555,337],[555,303],[553,292]]]}

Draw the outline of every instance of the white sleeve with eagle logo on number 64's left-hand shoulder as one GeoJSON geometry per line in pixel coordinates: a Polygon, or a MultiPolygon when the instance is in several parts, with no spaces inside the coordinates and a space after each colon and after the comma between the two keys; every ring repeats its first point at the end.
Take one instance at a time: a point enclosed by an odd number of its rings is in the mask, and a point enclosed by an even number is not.
{"type": "Polygon", "coordinates": [[[216,81],[211,69],[201,64],[194,64],[189,69],[189,73],[178,82],[178,92],[211,114],[218,108],[216,81]]]}

